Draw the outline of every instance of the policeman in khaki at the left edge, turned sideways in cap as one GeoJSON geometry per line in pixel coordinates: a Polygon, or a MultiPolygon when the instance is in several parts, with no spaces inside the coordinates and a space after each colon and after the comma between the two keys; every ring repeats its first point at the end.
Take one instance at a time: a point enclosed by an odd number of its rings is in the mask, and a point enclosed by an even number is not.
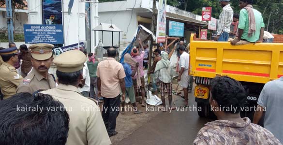
{"type": "Polygon", "coordinates": [[[0,88],[3,99],[7,99],[16,93],[16,89],[23,77],[17,73],[14,64],[18,61],[18,51],[16,47],[1,49],[0,55],[3,60],[0,66],[0,88]]]}

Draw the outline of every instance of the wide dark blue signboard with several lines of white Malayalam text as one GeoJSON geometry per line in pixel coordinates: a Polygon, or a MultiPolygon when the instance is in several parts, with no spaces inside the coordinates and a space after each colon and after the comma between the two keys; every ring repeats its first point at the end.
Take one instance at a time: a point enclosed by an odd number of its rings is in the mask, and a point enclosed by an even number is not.
{"type": "Polygon", "coordinates": [[[24,25],[25,43],[63,44],[62,25],[24,25]]]}

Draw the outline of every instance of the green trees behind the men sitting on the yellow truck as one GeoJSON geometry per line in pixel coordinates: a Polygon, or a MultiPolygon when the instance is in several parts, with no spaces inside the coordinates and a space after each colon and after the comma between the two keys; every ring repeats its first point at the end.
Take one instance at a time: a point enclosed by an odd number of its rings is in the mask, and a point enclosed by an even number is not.
{"type": "MultiPolygon", "coordinates": [[[[202,7],[212,7],[212,17],[218,18],[222,11],[219,0],[178,0],[182,2],[180,9],[185,10],[184,1],[188,2],[186,11],[201,15],[202,7]]],[[[234,13],[239,14],[238,0],[230,0],[234,13]]],[[[263,15],[265,28],[272,33],[283,33],[283,1],[282,0],[253,0],[253,8],[263,15]],[[269,19],[269,23],[268,23],[269,19]]]]}

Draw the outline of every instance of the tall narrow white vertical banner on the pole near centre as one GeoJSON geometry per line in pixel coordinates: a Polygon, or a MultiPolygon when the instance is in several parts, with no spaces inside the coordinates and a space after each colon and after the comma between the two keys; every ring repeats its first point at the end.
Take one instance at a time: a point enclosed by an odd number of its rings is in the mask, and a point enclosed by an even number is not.
{"type": "Polygon", "coordinates": [[[157,43],[164,43],[166,39],[166,0],[159,0],[156,28],[157,43]]]}

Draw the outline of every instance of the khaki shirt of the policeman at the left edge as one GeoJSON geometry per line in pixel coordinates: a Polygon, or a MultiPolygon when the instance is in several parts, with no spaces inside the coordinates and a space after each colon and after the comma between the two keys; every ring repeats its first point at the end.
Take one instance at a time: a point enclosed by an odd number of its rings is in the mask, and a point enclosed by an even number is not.
{"type": "Polygon", "coordinates": [[[0,88],[4,99],[15,95],[16,89],[22,81],[23,77],[17,73],[15,67],[3,62],[0,66],[0,88]]]}

